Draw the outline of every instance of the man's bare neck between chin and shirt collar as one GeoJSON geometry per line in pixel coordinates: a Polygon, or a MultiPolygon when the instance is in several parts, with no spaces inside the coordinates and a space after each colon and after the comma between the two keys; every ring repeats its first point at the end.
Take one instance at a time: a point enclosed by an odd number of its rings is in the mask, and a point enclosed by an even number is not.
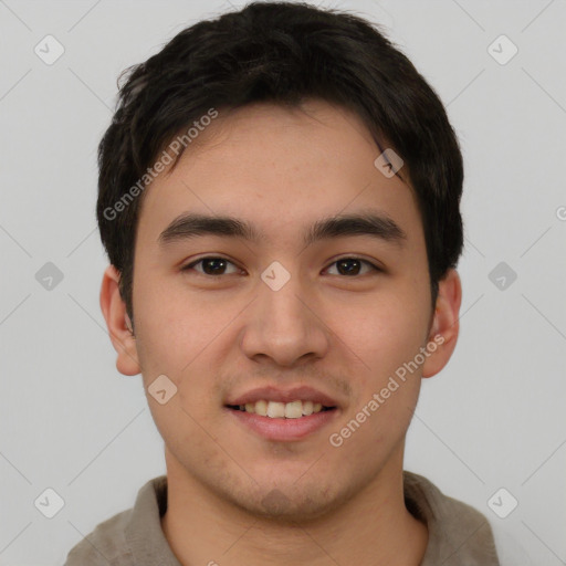
{"type": "Polygon", "coordinates": [[[164,534],[182,566],[418,566],[427,526],[405,506],[402,451],[332,514],[304,523],[251,515],[211,493],[166,452],[164,534]]]}

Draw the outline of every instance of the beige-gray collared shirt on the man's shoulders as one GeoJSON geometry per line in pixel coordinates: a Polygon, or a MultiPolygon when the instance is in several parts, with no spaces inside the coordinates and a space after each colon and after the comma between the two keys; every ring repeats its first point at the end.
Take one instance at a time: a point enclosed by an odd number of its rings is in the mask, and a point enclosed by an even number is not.
{"type": "MultiPolygon", "coordinates": [[[[429,542],[420,566],[500,566],[492,530],[476,510],[446,496],[429,480],[403,472],[407,509],[424,521],[429,542]]],[[[104,521],[64,566],[181,566],[161,530],[167,476],[148,481],[133,509],[104,521]]]]}

